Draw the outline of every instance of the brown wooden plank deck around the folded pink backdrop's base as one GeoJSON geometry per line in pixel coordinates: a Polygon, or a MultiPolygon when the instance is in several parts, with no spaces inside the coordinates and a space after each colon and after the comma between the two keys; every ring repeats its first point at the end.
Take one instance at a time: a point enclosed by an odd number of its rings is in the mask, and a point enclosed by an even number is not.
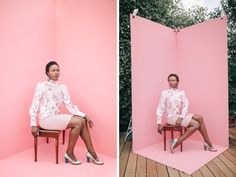
{"type": "MultiPolygon", "coordinates": [[[[132,142],[120,136],[120,177],[190,177],[132,152],[132,142]]],[[[236,127],[230,128],[229,149],[194,172],[192,177],[236,177],[236,127]]]]}

